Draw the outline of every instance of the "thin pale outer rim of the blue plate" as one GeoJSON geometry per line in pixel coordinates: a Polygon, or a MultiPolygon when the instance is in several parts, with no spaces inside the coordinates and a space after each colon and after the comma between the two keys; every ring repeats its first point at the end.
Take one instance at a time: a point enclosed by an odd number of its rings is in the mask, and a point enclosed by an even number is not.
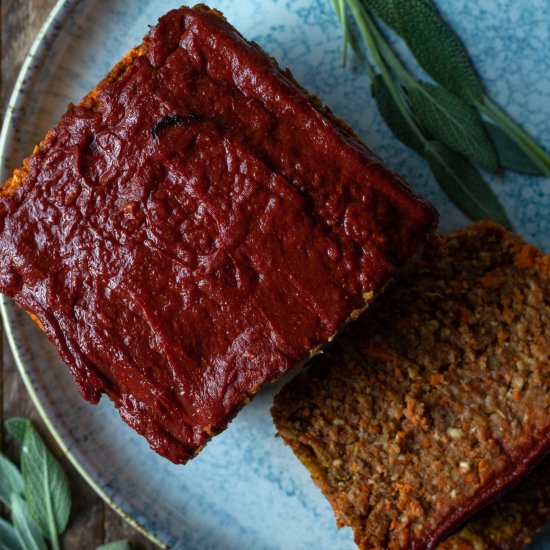
{"type": "MultiPolygon", "coordinates": [[[[80,3],[81,0],[57,0],[56,4],[48,14],[46,20],[40,27],[38,34],[34,38],[32,45],[23,60],[21,69],[15,81],[13,91],[10,95],[8,105],[6,107],[6,112],[2,122],[2,130],[0,132],[0,161],[2,166],[5,168],[6,153],[9,149],[10,138],[12,137],[14,125],[13,119],[14,115],[19,110],[21,103],[25,97],[24,88],[26,87],[27,77],[29,74],[40,65],[41,61],[47,54],[45,44],[52,39],[55,39],[55,34],[64,24],[64,18],[68,13],[80,3]]],[[[38,414],[46,428],[53,436],[55,442],[60,447],[61,452],[66,456],[75,468],[78,474],[85,480],[89,487],[91,487],[94,492],[106,503],[111,509],[113,509],[120,517],[122,517],[128,524],[130,524],[134,529],[136,529],[140,534],[146,537],[150,542],[157,545],[159,548],[166,549],[168,546],[157,538],[153,533],[151,533],[144,525],[139,523],[134,519],[128,512],[122,509],[114,500],[100,487],[100,485],[94,480],[92,475],[80,464],[77,457],[71,452],[69,446],[63,439],[63,436],[58,432],[53,421],[48,416],[46,409],[44,408],[40,395],[33,383],[32,373],[27,370],[25,362],[21,354],[19,353],[19,348],[15,341],[15,327],[12,326],[9,320],[8,308],[18,307],[12,300],[7,298],[4,295],[0,297],[0,316],[2,318],[2,324],[6,333],[8,340],[8,345],[10,351],[14,357],[15,364],[19,375],[23,379],[23,384],[27,392],[31,397],[33,405],[36,407],[38,414]]]]}

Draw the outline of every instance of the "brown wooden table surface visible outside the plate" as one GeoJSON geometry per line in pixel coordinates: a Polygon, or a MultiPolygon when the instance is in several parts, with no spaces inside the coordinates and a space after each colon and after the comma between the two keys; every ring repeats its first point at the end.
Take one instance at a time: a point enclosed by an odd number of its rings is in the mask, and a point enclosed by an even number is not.
{"type": "MultiPolygon", "coordinates": [[[[23,59],[36,33],[55,3],[56,0],[1,0],[2,118],[23,59]]],[[[62,540],[63,548],[67,550],[91,550],[100,544],[118,539],[130,540],[133,549],[149,550],[156,548],[128,525],[116,512],[111,510],[86,484],[68,460],[62,456],[44,423],[41,422],[19,376],[3,327],[0,345],[1,449],[12,459],[17,457],[18,449],[11,439],[6,439],[3,424],[6,418],[26,416],[34,421],[47,441],[49,448],[60,458],[69,476],[73,497],[69,527],[62,540]]]]}

